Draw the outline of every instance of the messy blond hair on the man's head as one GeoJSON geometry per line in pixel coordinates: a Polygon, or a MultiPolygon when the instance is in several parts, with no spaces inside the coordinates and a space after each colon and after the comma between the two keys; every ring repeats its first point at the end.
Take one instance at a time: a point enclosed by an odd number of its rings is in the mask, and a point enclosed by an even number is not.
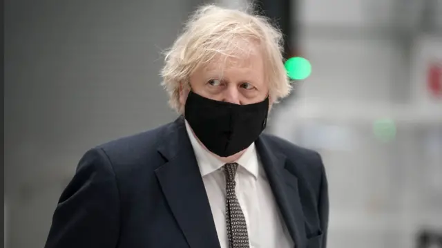
{"type": "Polygon", "coordinates": [[[161,71],[162,86],[169,94],[169,104],[182,113],[180,83],[189,84],[190,75],[215,56],[234,57],[240,44],[256,43],[262,51],[269,96],[273,102],[289,95],[291,85],[283,64],[282,33],[266,17],[249,10],[233,10],[213,4],[201,6],[184,26],[184,32],[165,53],[161,71]]]}

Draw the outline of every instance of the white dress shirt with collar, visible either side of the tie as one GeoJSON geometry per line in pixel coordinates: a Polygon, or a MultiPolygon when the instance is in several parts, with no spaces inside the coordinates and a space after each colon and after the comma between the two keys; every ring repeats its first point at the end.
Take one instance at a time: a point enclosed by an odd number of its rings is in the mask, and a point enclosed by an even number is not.
{"type": "MultiPolygon", "coordinates": [[[[226,183],[222,166],[218,160],[196,140],[186,122],[187,133],[195,151],[200,173],[209,198],[221,248],[229,248],[226,227],[226,183]]],[[[280,214],[265,171],[260,165],[255,144],[236,161],[236,197],[240,202],[251,248],[293,248],[284,220],[280,214]]]]}

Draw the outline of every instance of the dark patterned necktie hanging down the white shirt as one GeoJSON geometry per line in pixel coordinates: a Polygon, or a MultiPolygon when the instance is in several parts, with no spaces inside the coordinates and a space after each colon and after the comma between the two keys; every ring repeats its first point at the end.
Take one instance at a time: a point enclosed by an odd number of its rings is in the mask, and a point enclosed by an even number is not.
{"type": "Polygon", "coordinates": [[[249,248],[246,219],[235,193],[237,163],[224,164],[226,175],[226,225],[229,248],[249,248]]]}

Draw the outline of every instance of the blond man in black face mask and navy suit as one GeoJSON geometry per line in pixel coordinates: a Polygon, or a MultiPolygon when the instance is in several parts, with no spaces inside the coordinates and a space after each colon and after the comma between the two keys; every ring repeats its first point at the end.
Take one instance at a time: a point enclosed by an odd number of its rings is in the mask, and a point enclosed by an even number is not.
{"type": "Polygon", "coordinates": [[[46,248],[323,248],[320,155],[262,134],[289,94],[282,35],[266,19],[204,6],[166,54],[175,122],[88,151],[46,248]]]}

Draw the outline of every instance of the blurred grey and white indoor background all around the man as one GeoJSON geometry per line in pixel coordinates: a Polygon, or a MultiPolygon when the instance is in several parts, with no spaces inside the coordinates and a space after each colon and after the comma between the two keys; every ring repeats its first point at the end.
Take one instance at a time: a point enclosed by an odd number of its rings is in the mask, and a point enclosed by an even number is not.
{"type": "MultiPolygon", "coordinates": [[[[175,119],[160,52],[202,2],[4,1],[5,247],[44,246],[88,149],[175,119]]],[[[328,247],[442,247],[442,1],[259,4],[311,62],[267,132],[323,155],[328,247]]]]}

